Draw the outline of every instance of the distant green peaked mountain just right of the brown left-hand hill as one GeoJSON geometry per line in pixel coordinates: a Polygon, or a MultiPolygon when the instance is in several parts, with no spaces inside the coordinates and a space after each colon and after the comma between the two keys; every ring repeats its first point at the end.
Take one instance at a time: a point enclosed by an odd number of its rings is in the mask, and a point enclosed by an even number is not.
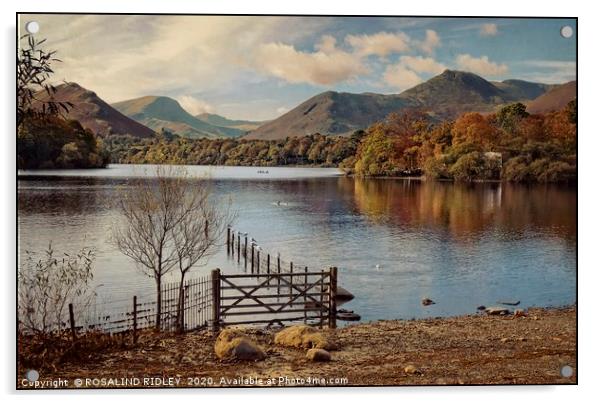
{"type": "Polygon", "coordinates": [[[239,129],[215,126],[199,120],[186,112],[178,101],[169,97],[146,96],[117,102],[112,106],[155,131],[165,128],[183,137],[238,137],[245,133],[239,129]]]}

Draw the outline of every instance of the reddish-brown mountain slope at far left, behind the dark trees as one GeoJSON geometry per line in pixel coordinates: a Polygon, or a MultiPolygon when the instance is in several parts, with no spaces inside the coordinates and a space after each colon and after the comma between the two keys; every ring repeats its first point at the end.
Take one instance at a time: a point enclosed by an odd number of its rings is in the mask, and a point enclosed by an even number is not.
{"type": "MultiPolygon", "coordinates": [[[[65,83],[56,87],[54,99],[60,102],[71,102],[73,108],[66,117],[78,120],[80,124],[101,137],[111,134],[129,134],[134,137],[152,137],[154,132],[123,115],[103,101],[93,91],[89,91],[76,83],[65,83]]],[[[36,95],[40,101],[48,100],[46,92],[36,95]]]]}

